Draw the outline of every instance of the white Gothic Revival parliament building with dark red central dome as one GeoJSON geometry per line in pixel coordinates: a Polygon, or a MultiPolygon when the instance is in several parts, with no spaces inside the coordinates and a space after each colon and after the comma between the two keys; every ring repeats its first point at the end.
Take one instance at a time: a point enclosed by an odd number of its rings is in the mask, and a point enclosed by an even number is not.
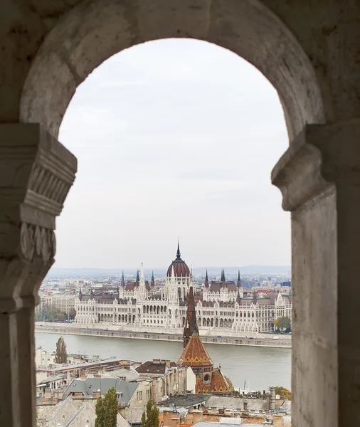
{"type": "MultiPolygon", "coordinates": [[[[169,265],[165,284],[159,290],[154,275],[149,283],[144,278],[144,268],[136,280],[113,283],[112,288],[82,292],[75,298],[75,323],[81,325],[117,325],[124,330],[172,330],[179,332],[186,323],[187,297],[192,286],[192,274],[181,259],[178,249],[176,259],[169,265]]],[[[203,290],[195,295],[198,329],[203,333],[228,332],[231,335],[270,332],[273,321],[290,317],[291,295],[270,292],[267,297],[243,297],[240,273],[237,281],[226,280],[225,271],[220,281],[208,280],[203,290]],[[224,332],[225,331],[225,332],[224,332]]]]}

